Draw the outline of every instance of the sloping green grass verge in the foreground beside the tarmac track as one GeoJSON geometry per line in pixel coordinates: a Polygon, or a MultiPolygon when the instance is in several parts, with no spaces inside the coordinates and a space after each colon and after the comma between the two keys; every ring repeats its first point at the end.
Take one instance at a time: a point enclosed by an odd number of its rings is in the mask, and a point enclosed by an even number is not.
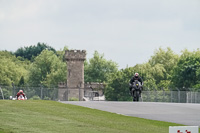
{"type": "Polygon", "coordinates": [[[0,133],[168,133],[180,124],[55,101],[0,100],[0,133]]]}

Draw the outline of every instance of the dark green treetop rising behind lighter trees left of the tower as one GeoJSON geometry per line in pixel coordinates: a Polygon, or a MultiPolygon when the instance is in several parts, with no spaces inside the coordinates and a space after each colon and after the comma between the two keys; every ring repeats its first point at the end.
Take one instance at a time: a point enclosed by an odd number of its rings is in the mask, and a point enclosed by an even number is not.
{"type": "Polygon", "coordinates": [[[38,56],[45,49],[48,49],[56,53],[56,50],[54,48],[44,43],[38,43],[37,46],[29,46],[24,48],[21,47],[14,54],[16,55],[16,57],[18,56],[22,57],[21,60],[23,60],[23,58],[31,60],[32,58],[38,56]]]}

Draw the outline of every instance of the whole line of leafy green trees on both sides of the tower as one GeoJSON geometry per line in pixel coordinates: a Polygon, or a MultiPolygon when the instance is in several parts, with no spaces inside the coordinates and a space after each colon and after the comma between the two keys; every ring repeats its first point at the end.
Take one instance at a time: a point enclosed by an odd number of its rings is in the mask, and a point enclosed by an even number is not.
{"type": "MultiPolygon", "coordinates": [[[[55,50],[44,43],[21,47],[15,52],[0,51],[0,84],[4,86],[57,87],[66,82],[65,50],[55,50]]],[[[93,57],[84,62],[85,82],[106,84],[107,100],[126,101],[128,83],[135,72],[144,80],[144,90],[200,90],[200,50],[184,49],[181,55],[170,48],[155,50],[148,62],[119,69],[118,64],[106,60],[94,51],[93,57]]]]}

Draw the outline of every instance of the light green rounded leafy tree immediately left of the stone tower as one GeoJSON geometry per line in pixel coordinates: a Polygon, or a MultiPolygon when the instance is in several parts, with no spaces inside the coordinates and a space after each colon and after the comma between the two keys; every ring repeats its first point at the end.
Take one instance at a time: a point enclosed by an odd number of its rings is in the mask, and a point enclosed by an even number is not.
{"type": "Polygon", "coordinates": [[[29,84],[32,86],[43,85],[57,86],[58,82],[66,81],[66,64],[54,52],[43,50],[31,64],[29,84]]]}

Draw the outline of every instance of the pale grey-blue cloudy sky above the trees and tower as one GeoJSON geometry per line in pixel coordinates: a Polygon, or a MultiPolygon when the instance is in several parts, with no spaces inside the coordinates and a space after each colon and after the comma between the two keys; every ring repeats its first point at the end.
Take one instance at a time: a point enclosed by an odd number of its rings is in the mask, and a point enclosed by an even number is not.
{"type": "Polygon", "coordinates": [[[0,50],[38,42],[132,67],[160,47],[200,48],[200,0],[0,0],[0,50]]]}

